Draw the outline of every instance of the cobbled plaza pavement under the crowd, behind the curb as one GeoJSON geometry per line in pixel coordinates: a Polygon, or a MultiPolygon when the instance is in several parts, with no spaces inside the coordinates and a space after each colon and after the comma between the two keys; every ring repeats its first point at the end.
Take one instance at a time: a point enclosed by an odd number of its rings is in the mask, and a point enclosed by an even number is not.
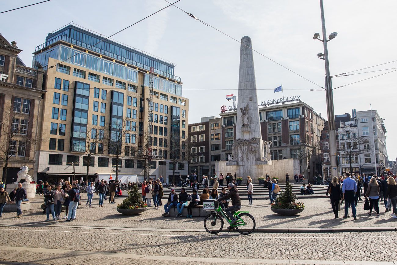
{"type": "MultiPolygon", "coordinates": [[[[84,198],[85,195],[82,195],[84,198]]],[[[77,220],[74,222],[50,222],[50,224],[57,225],[81,225],[81,226],[116,226],[128,228],[146,228],[148,224],[154,227],[170,228],[170,229],[204,229],[204,217],[194,217],[193,219],[186,219],[185,217],[167,217],[166,219],[161,216],[164,212],[162,206],[160,209],[154,210],[149,207],[141,215],[137,216],[123,216],[116,211],[117,203],[120,203],[123,198],[116,198],[116,203],[104,203],[104,207],[98,207],[98,196],[94,196],[93,207],[85,206],[85,201],[82,201],[79,209],[77,209],[77,220]]],[[[166,199],[163,199],[163,202],[166,199]]],[[[357,221],[353,218],[342,219],[343,210],[339,212],[339,219],[333,218],[331,204],[328,199],[299,199],[305,204],[305,209],[297,216],[281,216],[276,215],[270,210],[268,200],[254,200],[254,205],[247,205],[248,201],[242,201],[243,211],[250,211],[255,217],[257,228],[269,227],[308,227],[308,228],[321,228],[321,227],[376,227],[376,226],[391,226],[397,227],[397,219],[392,219],[389,213],[384,213],[384,206],[380,203],[380,218],[375,215],[370,217],[367,211],[364,211],[362,201],[358,203],[357,207],[357,221]]],[[[45,215],[42,214],[40,205],[42,203],[42,196],[33,199],[32,209],[23,212],[22,218],[14,218],[16,213],[4,212],[3,218],[0,223],[30,223],[36,224],[44,220],[45,215]]],[[[351,211],[350,211],[351,212],[351,211]]],[[[62,213],[64,215],[64,213],[62,213]]],[[[350,213],[351,215],[351,213],[350,213]]],[[[63,217],[63,216],[62,216],[63,217]]]]}

